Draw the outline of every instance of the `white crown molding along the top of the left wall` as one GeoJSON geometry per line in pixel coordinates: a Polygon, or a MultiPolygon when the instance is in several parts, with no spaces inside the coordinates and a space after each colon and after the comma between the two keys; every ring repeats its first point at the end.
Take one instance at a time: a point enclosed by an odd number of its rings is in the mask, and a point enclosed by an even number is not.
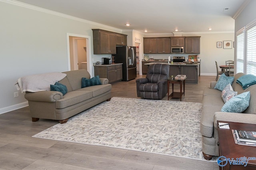
{"type": "Polygon", "coordinates": [[[32,10],[37,10],[37,11],[40,11],[40,12],[45,12],[45,13],[48,13],[48,14],[52,14],[52,15],[56,15],[56,16],[61,16],[61,17],[64,17],[64,18],[68,18],[68,19],[71,19],[71,20],[85,22],[87,24],[92,24],[92,25],[96,25],[96,26],[100,26],[100,27],[116,30],[118,32],[122,32],[122,30],[118,29],[118,28],[114,28],[114,27],[111,27],[111,26],[100,24],[98,22],[92,22],[92,21],[89,21],[89,20],[84,20],[84,19],[81,19],[81,18],[78,18],[78,17],[67,15],[67,14],[62,14],[60,12],[55,12],[55,11],[52,11],[52,10],[47,10],[47,9],[44,9],[44,8],[40,8],[38,6],[33,6],[33,5],[30,5],[30,4],[25,4],[23,2],[18,2],[16,0],[0,0],[0,2],[6,2],[8,4],[13,4],[13,5],[16,5],[16,6],[21,6],[21,7],[24,7],[24,8],[29,8],[29,9],[32,9],[32,10]]]}

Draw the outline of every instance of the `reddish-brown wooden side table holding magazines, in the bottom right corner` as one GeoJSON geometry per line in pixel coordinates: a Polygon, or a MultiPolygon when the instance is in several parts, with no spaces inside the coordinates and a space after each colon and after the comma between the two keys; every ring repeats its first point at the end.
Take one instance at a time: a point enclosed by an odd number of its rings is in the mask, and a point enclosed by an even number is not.
{"type": "MultiPolygon", "coordinates": [[[[241,157],[256,157],[256,147],[235,144],[234,137],[232,134],[233,130],[248,130],[256,131],[255,124],[248,123],[234,123],[226,121],[217,121],[228,123],[230,129],[218,128],[219,136],[219,155],[225,156],[226,158],[241,158],[241,157]]],[[[225,163],[225,162],[224,162],[225,163]]],[[[229,162],[225,166],[220,167],[220,170],[256,170],[256,160],[249,160],[247,166],[244,165],[234,165],[229,162]]]]}

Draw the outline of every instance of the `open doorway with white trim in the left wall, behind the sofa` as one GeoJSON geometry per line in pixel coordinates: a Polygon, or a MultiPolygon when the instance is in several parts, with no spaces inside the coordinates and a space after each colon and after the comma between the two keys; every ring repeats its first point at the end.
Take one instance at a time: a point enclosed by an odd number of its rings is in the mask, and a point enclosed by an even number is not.
{"type": "Polygon", "coordinates": [[[92,75],[92,56],[90,55],[90,36],[67,34],[68,69],[87,69],[92,75]]]}

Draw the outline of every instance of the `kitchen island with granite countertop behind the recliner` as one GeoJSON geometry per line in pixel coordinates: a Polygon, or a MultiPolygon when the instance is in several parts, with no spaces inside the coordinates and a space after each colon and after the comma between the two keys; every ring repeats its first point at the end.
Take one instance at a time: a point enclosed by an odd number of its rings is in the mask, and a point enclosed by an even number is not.
{"type": "MultiPolygon", "coordinates": [[[[149,66],[153,63],[165,63],[168,64],[168,62],[150,62],[146,63],[144,65],[149,66]]],[[[194,63],[169,63],[170,66],[169,69],[169,77],[173,75],[174,77],[176,75],[186,75],[186,83],[198,83],[198,67],[200,63],[194,62],[194,63]]]]}

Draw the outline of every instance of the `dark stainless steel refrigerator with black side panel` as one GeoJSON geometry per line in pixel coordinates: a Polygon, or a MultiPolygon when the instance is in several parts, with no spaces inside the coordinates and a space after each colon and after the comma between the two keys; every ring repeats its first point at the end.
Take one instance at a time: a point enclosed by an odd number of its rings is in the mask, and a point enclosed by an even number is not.
{"type": "Polygon", "coordinates": [[[136,72],[136,47],[118,46],[116,47],[116,55],[114,55],[115,63],[123,63],[123,79],[129,81],[137,77],[136,72]]]}

